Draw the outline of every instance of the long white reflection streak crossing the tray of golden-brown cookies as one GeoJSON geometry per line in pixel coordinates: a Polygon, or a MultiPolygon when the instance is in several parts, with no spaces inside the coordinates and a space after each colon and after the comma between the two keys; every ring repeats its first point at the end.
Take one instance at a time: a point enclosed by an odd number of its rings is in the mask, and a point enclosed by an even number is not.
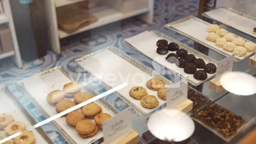
{"type": "Polygon", "coordinates": [[[49,123],[49,122],[53,121],[54,119],[57,119],[57,118],[59,118],[59,117],[61,117],[61,116],[63,116],[63,115],[66,115],[66,114],[70,113],[71,111],[74,111],[74,110],[76,110],[76,109],[78,109],[78,108],[81,108],[81,107],[83,107],[83,106],[85,106],[85,105],[87,105],[87,104],[89,104],[89,103],[91,103],[91,102],[93,102],[93,101],[96,101],[96,100],[98,100],[98,99],[100,99],[100,98],[103,98],[103,97],[105,97],[106,95],[108,95],[108,94],[110,94],[110,93],[113,93],[113,92],[115,92],[115,91],[118,91],[118,90],[122,89],[123,87],[125,87],[125,86],[127,86],[127,85],[128,85],[127,83],[118,85],[118,86],[114,87],[113,89],[110,89],[110,90],[108,90],[108,91],[106,91],[106,92],[103,92],[103,93],[101,93],[101,94],[99,94],[99,95],[97,95],[97,96],[95,96],[95,97],[93,97],[93,98],[91,98],[91,99],[89,99],[89,100],[86,100],[86,101],[84,101],[84,102],[82,102],[82,103],[79,103],[78,105],[76,105],[76,106],[74,106],[74,107],[71,107],[71,108],[69,108],[69,109],[67,109],[67,110],[65,110],[65,111],[62,111],[61,113],[59,113],[59,114],[57,114],[57,115],[54,115],[54,116],[52,116],[52,117],[50,117],[50,118],[47,118],[47,119],[45,119],[44,121],[39,122],[39,123],[37,123],[36,125],[34,125],[34,127],[37,128],[37,127],[40,127],[40,126],[42,126],[42,125],[44,125],[44,124],[46,124],[46,123],[49,123]]]}

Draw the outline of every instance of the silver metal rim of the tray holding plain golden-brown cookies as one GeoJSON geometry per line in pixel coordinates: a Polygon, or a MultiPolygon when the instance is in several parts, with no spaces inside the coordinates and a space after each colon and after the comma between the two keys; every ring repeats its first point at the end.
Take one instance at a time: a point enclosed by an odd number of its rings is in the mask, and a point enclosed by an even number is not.
{"type": "MultiPolygon", "coordinates": [[[[43,71],[43,72],[41,72],[41,73],[38,73],[38,74],[36,74],[36,75],[34,75],[34,76],[30,76],[30,77],[28,77],[28,78],[25,78],[25,79],[22,79],[21,81],[19,81],[17,84],[18,84],[18,86],[20,87],[20,89],[21,89],[24,93],[26,93],[26,94],[28,95],[28,97],[31,99],[31,101],[33,101],[33,102],[35,103],[35,105],[38,107],[39,110],[42,111],[43,115],[44,115],[46,118],[51,117],[51,115],[45,110],[44,107],[42,107],[42,105],[41,105],[42,102],[37,101],[37,100],[35,99],[35,95],[32,95],[31,93],[28,92],[28,90],[27,90],[26,87],[24,86],[24,83],[25,83],[27,80],[32,79],[33,77],[44,76],[44,75],[47,74],[47,73],[55,73],[55,71],[58,71],[58,70],[60,70],[61,73],[64,74],[68,79],[70,79],[70,81],[75,81],[76,83],[78,83],[79,85],[81,85],[81,86],[82,86],[82,91],[85,91],[85,92],[87,92],[87,93],[90,93],[90,94],[92,94],[93,96],[98,95],[98,94],[97,94],[96,92],[94,92],[93,90],[91,90],[91,89],[89,89],[88,87],[84,86],[84,85],[82,84],[82,82],[81,82],[77,77],[75,77],[74,75],[72,75],[71,73],[69,73],[67,70],[65,70],[65,69],[64,69],[63,67],[61,67],[61,66],[57,66],[57,67],[54,67],[54,68],[45,70],[45,71],[43,71]]],[[[32,81],[32,82],[33,82],[33,81],[32,81]]],[[[56,83],[59,83],[59,82],[56,82],[56,83]]],[[[36,84],[35,84],[35,85],[36,85],[36,84]]],[[[47,84],[46,84],[46,85],[47,85],[47,84]]],[[[46,101],[46,95],[45,95],[45,101],[46,101]]],[[[110,105],[106,100],[104,100],[103,98],[97,100],[96,102],[97,102],[98,105],[100,105],[102,108],[105,108],[105,109],[107,109],[108,111],[111,111],[111,113],[113,113],[113,114],[117,114],[117,113],[119,112],[117,109],[115,109],[113,106],[111,106],[111,105],[110,105]]],[[[54,109],[55,109],[55,108],[54,108],[54,109]]],[[[56,114],[57,114],[57,113],[56,113],[56,114]]],[[[60,117],[60,118],[62,118],[62,117],[60,117]]],[[[63,130],[63,127],[60,126],[59,123],[56,122],[56,120],[55,120],[55,121],[52,121],[52,124],[53,124],[55,127],[57,127],[57,129],[60,131],[60,133],[66,138],[66,140],[68,141],[68,143],[77,143],[76,140],[75,140],[73,137],[71,137],[70,132],[67,132],[67,131],[63,130]]],[[[74,131],[75,131],[75,129],[74,129],[74,131]]],[[[101,132],[101,131],[98,131],[98,133],[99,133],[99,132],[101,132]]],[[[102,132],[101,132],[101,133],[102,133],[102,132]]],[[[77,134],[77,135],[78,135],[78,134],[77,134]]],[[[95,137],[95,135],[94,135],[94,137],[95,137]]],[[[79,138],[79,136],[78,136],[78,138],[79,138]]],[[[92,137],[92,138],[93,138],[93,137],[92,137]]],[[[99,137],[99,138],[97,138],[97,139],[93,139],[93,140],[91,140],[91,141],[88,141],[88,140],[86,141],[86,138],[83,138],[83,139],[84,139],[83,142],[84,142],[84,143],[93,143],[93,142],[95,142],[95,141],[100,140],[101,138],[102,138],[102,136],[99,137]]]]}

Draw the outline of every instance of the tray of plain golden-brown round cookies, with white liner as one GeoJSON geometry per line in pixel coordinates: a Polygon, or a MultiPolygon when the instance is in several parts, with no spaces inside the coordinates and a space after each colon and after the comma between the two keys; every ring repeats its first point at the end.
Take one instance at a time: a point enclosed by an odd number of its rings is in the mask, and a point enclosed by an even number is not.
{"type": "MultiPolygon", "coordinates": [[[[98,95],[61,66],[23,79],[18,86],[47,118],[98,95]]],[[[52,123],[69,143],[93,143],[103,137],[102,123],[117,113],[101,98],[52,123]]]]}

